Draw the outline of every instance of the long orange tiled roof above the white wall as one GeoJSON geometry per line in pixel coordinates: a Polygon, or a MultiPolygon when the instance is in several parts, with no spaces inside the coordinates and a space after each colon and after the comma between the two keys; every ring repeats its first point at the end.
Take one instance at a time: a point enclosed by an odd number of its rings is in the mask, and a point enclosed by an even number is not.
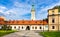
{"type": "Polygon", "coordinates": [[[42,20],[9,20],[0,22],[0,24],[8,25],[47,25],[47,21],[42,20]]]}

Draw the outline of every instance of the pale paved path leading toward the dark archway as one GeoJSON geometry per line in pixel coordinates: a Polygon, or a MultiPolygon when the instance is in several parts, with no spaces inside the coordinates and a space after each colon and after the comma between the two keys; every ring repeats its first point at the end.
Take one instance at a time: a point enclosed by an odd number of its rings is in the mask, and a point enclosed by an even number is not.
{"type": "Polygon", "coordinates": [[[42,37],[35,31],[19,31],[12,34],[5,35],[3,37],[42,37]]]}

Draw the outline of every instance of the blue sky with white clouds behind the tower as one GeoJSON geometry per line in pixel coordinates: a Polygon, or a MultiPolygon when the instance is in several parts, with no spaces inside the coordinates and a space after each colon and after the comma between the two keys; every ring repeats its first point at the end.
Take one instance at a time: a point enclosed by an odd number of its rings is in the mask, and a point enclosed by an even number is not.
{"type": "Polygon", "coordinates": [[[47,18],[48,9],[60,5],[60,0],[0,0],[0,16],[8,20],[31,20],[32,4],[36,20],[47,18]]]}

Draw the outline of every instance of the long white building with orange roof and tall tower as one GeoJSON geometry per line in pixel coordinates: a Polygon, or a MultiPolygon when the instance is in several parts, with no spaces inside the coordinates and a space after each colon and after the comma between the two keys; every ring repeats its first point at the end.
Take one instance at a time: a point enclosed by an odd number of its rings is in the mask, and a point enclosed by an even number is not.
{"type": "MultiPolygon", "coordinates": [[[[1,17],[0,17],[1,18],[1,17]]],[[[48,30],[46,20],[35,20],[35,8],[32,5],[31,20],[4,20],[0,19],[0,29],[2,25],[10,25],[12,30],[48,30]]]]}

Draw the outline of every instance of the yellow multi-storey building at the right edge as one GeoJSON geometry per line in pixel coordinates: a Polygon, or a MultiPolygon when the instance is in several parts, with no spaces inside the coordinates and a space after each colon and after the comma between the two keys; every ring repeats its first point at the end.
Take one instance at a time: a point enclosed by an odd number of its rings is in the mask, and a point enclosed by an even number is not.
{"type": "Polygon", "coordinates": [[[60,30],[60,6],[48,10],[49,31],[60,30]]]}

